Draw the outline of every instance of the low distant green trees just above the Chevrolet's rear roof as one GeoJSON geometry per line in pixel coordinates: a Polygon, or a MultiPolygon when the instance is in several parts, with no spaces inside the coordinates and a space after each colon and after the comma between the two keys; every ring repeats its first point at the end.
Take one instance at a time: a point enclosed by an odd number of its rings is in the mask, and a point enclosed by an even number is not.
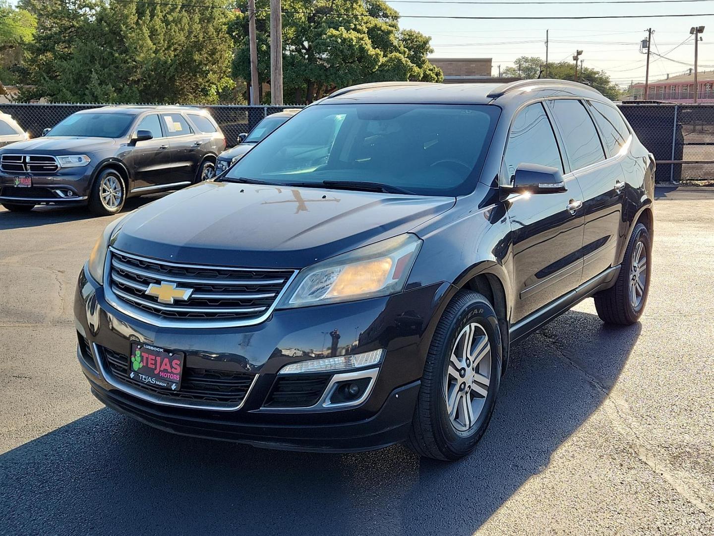
{"type": "MultiPolygon", "coordinates": [[[[503,76],[513,76],[523,79],[545,78],[545,61],[535,56],[521,56],[513,62],[515,66],[503,69],[503,76]]],[[[548,78],[558,80],[575,80],[575,62],[558,61],[548,64],[548,78]]],[[[618,100],[620,89],[613,84],[605,71],[597,71],[583,66],[578,67],[578,81],[588,84],[608,97],[618,100]]]]}

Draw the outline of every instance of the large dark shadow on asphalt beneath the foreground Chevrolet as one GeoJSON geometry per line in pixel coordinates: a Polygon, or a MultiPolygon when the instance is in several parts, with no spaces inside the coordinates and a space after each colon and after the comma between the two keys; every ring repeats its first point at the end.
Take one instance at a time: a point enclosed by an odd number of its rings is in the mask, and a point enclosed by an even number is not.
{"type": "Polygon", "coordinates": [[[0,532],[471,535],[600,406],[639,334],[569,312],[513,347],[491,427],[452,464],[261,450],[99,410],[0,456],[0,532]]]}

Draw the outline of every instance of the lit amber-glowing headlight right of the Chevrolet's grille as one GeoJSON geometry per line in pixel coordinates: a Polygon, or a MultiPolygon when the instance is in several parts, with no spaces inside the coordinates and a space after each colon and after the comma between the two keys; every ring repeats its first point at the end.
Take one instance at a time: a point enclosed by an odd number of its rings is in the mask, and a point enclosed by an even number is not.
{"type": "Polygon", "coordinates": [[[303,269],[280,308],[304,307],[401,292],[421,240],[413,234],[383,240],[303,269]]]}

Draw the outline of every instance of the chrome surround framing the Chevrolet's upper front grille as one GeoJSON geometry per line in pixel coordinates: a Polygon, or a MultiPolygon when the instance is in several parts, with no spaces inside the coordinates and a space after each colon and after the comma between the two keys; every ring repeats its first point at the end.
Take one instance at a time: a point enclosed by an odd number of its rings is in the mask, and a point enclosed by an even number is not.
{"type": "MultiPolygon", "coordinates": [[[[119,299],[116,294],[114,294],[114,291],[111,289],[111,258],[112,258],[112,252],[116,252],[120,255],[126,255],[126,257],[132,257],[133,259],[138,259],[138,260],[143,260],[147,262],[160,262],[161,264],[166,264],[169,266],[176,266],[176,267],[184,267],[184,268],[208,268],[208,269],[228,269],[228,270],[236,270],[236,271],[250,271],[250,268],[233,268],[233,267],[217,267],[217,266],[207,266],[207,265],[198,265],[198,264],[179,264],[176,262],[166,262],[162,261],[161,259],[150,259],[148,257],[140,257],[139,255],[134,255],[134,254],[129,254],[126,252],[121,251],[120,249],[116,249],[114,247],[109,247],[109,252],[106,255],[106,260],[104,261],[104,282],[102,282],[102,287],[104,289],[104,299],[115,309],[117,309],[119,312],[122,312],[129,317],[135,318],[137,320],[141,320],[142,322],[146,322],[146,324],[156,326],[156,327],[175,327],[175,328],[181,328],[181,329],[186,329],[186,328],[192,328],[192,329],[206,329],[206,328],[213,328],[213,327],[243,327],[243,326],[255,326],[257,324],[261,324],[265,322],[271,314],[273,314],[273,311],[276,309],[278,303],[280,302],[281,298],[283,297],[283,294],[287,292],[288,288],[290,287],[291,283],[293,280],[297,277],[298,270],[293,269],[293,274],[291,277],[288,278],[288,280],[285,282],[283,285],[283,288],[281,291],[278,293],[276,296],[276,299],[273,300],[273,303],[268,307],[263,314],[261,314],[259,317],[251,318],[251,319],[228,319],[228,320],[220,320],[220,319],[208,319],[208,320],[192,320],[192,319],[169,319],[166,317],[160,317],[158,314],[151,314],[148,311],[145,311],[144,309],[141,309],[140,307],[134,307],[133,305],[124,302],[124,300],[119,299]]],[[[263,269],[259,268],[262,271],[271,271],[271,272],[286,272],[288,269],[263,269]]],[[[156,274],[154,274],[152,277],[155,277],[156,274]]],[[[283,279],[281,279],[283,281],[283,279]]]]}

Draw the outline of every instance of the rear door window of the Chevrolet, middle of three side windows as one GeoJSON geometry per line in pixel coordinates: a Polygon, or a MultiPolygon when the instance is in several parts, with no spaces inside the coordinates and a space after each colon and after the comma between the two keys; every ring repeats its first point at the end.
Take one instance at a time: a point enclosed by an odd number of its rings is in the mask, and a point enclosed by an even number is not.
{"type": "Polygon", "coordinates": [[[605,159],[598,131],[582,102],[558,99],[548,101],[548,106],[553,108],[555,120],[560,126],[570,171],[605,159]]]}

